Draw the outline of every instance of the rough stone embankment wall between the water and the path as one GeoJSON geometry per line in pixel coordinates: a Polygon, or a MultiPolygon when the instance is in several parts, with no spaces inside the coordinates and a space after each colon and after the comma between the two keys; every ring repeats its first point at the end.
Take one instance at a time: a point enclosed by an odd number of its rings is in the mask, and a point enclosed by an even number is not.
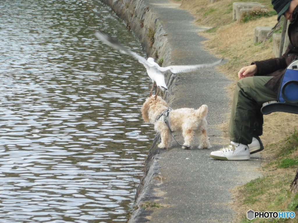
{"type": "MultiPolygon", "coordinates": [[[[167,41],[167,33],[144,0],[100,1],[111,7],[116,15],[126,23],[127,28],[141,42],[148,57],[153,57],[155,61],[163,59],[162,66],[170,65],[171,48],[167,41]]],[[[169,90],[164,95],[164,98],[169,102],[172,99],[171,97],[173,97],[173,86],[175,86],[176,76],[169,73],[165,77],[169,90]]],[[[156,147],[158,139],[159,135],[155,137],[149,149],[148,158],[145,161],[145,173],[136,192],[136,210],[129,220],[130,223],[148,221],[145,217],[150,215],[151,211],[147,211],[140,206],[150,198],[155,197],[154,186],[160,184],[156,177],[159,175],[159,167],[156,165],[158,157],[156,155],[162,153],[163,150],[156,147]]]]}

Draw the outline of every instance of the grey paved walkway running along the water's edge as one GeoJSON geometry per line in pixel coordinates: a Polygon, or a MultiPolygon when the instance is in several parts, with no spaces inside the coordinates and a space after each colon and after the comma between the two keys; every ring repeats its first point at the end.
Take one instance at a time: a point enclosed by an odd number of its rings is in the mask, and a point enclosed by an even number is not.
{"type": "MultiPolygon", "coordinates": [[[[193,23],[194,18],[179,4],[166,0],[147,0],[150,10],[158,16],[173,49],[172,64],[198,64],[214,62],[218,58],[203,49],[198,35],[202,27],[193,23]]],[[[232,18],[231,18],[232,19],[232,18]]],[[[231,83],[215,69],[179,74],[173,88],[173,109],[198,108],[208,105],[208,135],[212,148],[182,150],[175,146],[159,151],[154,158],[152,171],[159,177],[151,182],[150,191],[141,200],[150,200],[162,208],[135,211],[130,222],[235,222],[237,214],[232,209],[230,190],[260,176],[258,154],[249,161],[218,161],[209,157],[211,151],[229,143],[219,125],[229,121],[229,102],[226,87],[231,83]],[[219,136],[212,136],[219,135],[219,136]]],[[[180,142],[182,137],[177,137],[180,142]]],[[[145,195],[144,195],[145,194],[145,195]]],[[[247,210],[248,211],[248,210],[247,210]]]]}

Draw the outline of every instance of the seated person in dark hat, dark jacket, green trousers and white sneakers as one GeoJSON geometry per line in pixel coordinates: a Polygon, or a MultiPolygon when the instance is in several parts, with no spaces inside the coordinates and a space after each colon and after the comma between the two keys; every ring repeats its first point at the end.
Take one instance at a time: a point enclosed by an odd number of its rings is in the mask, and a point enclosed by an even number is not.
{"type": "Polygon", "coordinates": [[[250,154],[264,149],[259,136],[263,134],[263,103],[277,100],[278,89],[286,67],[298,56],[298,0],[272,0],[277,20],[290,21],[290,43],[285,54],[252,62],[238,72],[228,134],[231,144],[213,151],[210,157],[220,160],[248,160],[250,154]]]}

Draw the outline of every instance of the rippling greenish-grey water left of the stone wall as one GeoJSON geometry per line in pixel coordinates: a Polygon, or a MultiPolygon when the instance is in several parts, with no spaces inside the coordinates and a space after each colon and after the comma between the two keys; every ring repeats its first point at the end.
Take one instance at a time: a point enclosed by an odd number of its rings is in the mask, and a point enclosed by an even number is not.
{"type": "Polygon", "coordinates": [[[0,222],[125,222],[151,81],[94,32],[140,44],[95,0],[2,0],[0,21],[0,222]]]}

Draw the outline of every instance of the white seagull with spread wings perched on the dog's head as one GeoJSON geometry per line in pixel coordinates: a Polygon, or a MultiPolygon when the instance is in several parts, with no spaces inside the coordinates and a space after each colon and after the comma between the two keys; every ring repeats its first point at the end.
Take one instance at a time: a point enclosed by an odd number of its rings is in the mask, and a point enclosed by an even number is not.
{"type": "Polygon", "coordinates": [[[136,54],[135,52],[129,50],[124,45],[119,43],[118,40],[112,38],[108,34],[103,31],[95,32],[95,36],[100,39],[103,43],[109,45],[110,47],[120,51],[123,54],[128,54],[136,58],[142,65],[145,66],[149,77],[152,79],[153,86],[150,90],[149,97],[152,95],[152,89],[154,87],[154,83],[156,83],[157,91],[155,97],[157,97],[159,88],[162,91],[167,91],[167,85],[164,81],[164,72],[170,70],[172,73],[187,73],[190,71],[206,68],[206,67],[213,67],[221,63],[222,59],[214,62],[214,63],[207,63],[207,64],[198,64],[198,65],[172,65],[168,67],[160,67],[152,57],[149,57],[147,60],[136,54]]]}

